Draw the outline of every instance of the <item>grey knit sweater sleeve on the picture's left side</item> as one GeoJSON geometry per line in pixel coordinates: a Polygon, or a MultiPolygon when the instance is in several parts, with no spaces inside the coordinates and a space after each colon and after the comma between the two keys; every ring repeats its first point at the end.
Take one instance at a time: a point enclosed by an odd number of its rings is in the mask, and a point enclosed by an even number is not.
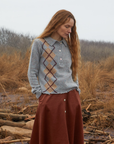
{"type": "Polygon", "coordinates": [[[41,86],[37,79],[40,65],[40,53],[41,53],[40,48],[41,46],[39,45],[39,41],[38,39],[36,39],[32,44],[29,67],[28,67],[28,80],[32,87],[31,92],[33,94],[36,94],[36,98],[39,98],[42,93],[41,86]]]}

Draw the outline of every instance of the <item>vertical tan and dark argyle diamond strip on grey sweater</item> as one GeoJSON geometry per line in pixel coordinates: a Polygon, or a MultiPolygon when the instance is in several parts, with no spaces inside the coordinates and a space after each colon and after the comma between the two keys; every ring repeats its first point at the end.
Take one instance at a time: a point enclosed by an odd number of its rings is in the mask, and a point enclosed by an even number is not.
{"type": "Polygon", "coordinates": [[[55,84],[55,82],[57,81],[57,78],[54,75],[56,73],[56,69],[54,67],[57,64],[57,62],[54,59],[56,55],[53,52],[55,47],[53,46],[51,50],[49,48],[49,44],[44,39],[40,39],[40,40],[43,42],[43,45],[42,45],[43,55],[42,56],[44,57],[43,64],[45,66],[45,69],[44,69],[44,73],[45,73],[44,80],[46,81],[46,84],[44,85],[46,88],[45,91],[48,91],[49,93],[54,91],[55,93],[57,93],[55,91],[55,89],[57,88],[57,85],[55,84]],[[46,46],[46,49],[44,49],[44,45],[46,46]],[[48,62],[47,65],[46,65],[46,61],[48,62]],[[51,65],[52,61],[54,62],[53,65],[51,65]],[[54,78],[54,81],[52,81],[52,78],[54,78]]]}

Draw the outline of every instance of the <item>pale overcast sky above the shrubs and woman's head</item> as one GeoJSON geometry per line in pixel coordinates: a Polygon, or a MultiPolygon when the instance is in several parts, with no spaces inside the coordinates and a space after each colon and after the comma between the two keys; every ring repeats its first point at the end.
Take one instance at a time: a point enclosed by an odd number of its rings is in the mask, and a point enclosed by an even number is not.
{"type": "Polygon", "coordinates": [[[114,0],[0,0],[0,28],[38,36],[60,9],[73,13],[80,39],[114,42],[114,0]]]}

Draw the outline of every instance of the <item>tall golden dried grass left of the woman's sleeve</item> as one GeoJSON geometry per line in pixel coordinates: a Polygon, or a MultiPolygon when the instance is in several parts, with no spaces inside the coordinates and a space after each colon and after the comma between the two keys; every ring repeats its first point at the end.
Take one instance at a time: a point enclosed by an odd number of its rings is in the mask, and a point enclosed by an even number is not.
{"type": "Polygon", "coordinates": [[[18,52],[0,57],[0,83],[5,89],[10,91],[19,87],[30,88],[27,79],[28,62],[29,50],[24,58],[18,52]]]}

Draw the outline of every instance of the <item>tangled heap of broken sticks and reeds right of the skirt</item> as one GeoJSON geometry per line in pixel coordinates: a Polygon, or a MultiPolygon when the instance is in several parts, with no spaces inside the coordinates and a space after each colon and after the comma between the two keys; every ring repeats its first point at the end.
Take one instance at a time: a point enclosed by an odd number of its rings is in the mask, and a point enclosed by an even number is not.
{"type": "Polygon", "coordinates": [[[90,106],[91,103],[87,106],[86,109],[82,109],[85,137],[84,144],[114,144],[114,115],[108,112],[104,114],[102,109],[89,112],[88,109],[90,106]],[[106,121],[108,124],[106,124],[106,121]],[[107,129],[104,130],[105,127],[107,127],[107,129]],[[111,130],[106,132],[110,127],[113,128],[113,134],[111,133],[111,130]]]}

